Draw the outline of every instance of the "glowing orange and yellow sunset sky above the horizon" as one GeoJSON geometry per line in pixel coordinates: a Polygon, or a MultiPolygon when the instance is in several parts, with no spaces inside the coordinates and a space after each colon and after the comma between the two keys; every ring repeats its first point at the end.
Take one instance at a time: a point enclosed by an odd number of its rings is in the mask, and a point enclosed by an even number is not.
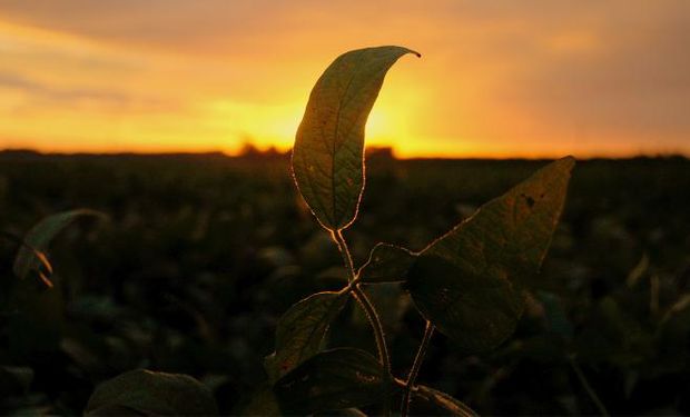
{"type": "Polygon", "coordinates": [[[0,0],[0,149],[290,148],[341,53],[398,44],[400,157],[690,155],[687,0],[0,0]]]}

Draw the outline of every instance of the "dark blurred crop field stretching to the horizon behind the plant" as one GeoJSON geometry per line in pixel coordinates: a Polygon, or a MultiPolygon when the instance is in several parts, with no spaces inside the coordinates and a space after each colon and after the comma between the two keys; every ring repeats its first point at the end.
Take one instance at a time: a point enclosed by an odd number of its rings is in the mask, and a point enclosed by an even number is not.
{"type": "MultiPolygon", "coordinates": [[[[422,249],[544,163],[371,158],[345,232],[356,264],[378,241],[422,249]]],[[[0,242],[0,414],[80,414],[96,384],[140,367],[190,374],[234,413],[265,379],[276,319],[344,279],[285,157],[0,153],[0,230],[77,207],[110,220],[58,236],[51,290],[18,281],[0,242]]],[[[588,384],[611,414],[690,414],[689,214],[686,159],[579,162],[518,331],[471,357],[436,335],[418,381],[490,415],[598,414],[588,384]]],[[[371,292],[402,376],[423,322],[400,287],[371,292]]],[[[344,345],[375,351],[352,304],[329,334],[344,345]]]]}

